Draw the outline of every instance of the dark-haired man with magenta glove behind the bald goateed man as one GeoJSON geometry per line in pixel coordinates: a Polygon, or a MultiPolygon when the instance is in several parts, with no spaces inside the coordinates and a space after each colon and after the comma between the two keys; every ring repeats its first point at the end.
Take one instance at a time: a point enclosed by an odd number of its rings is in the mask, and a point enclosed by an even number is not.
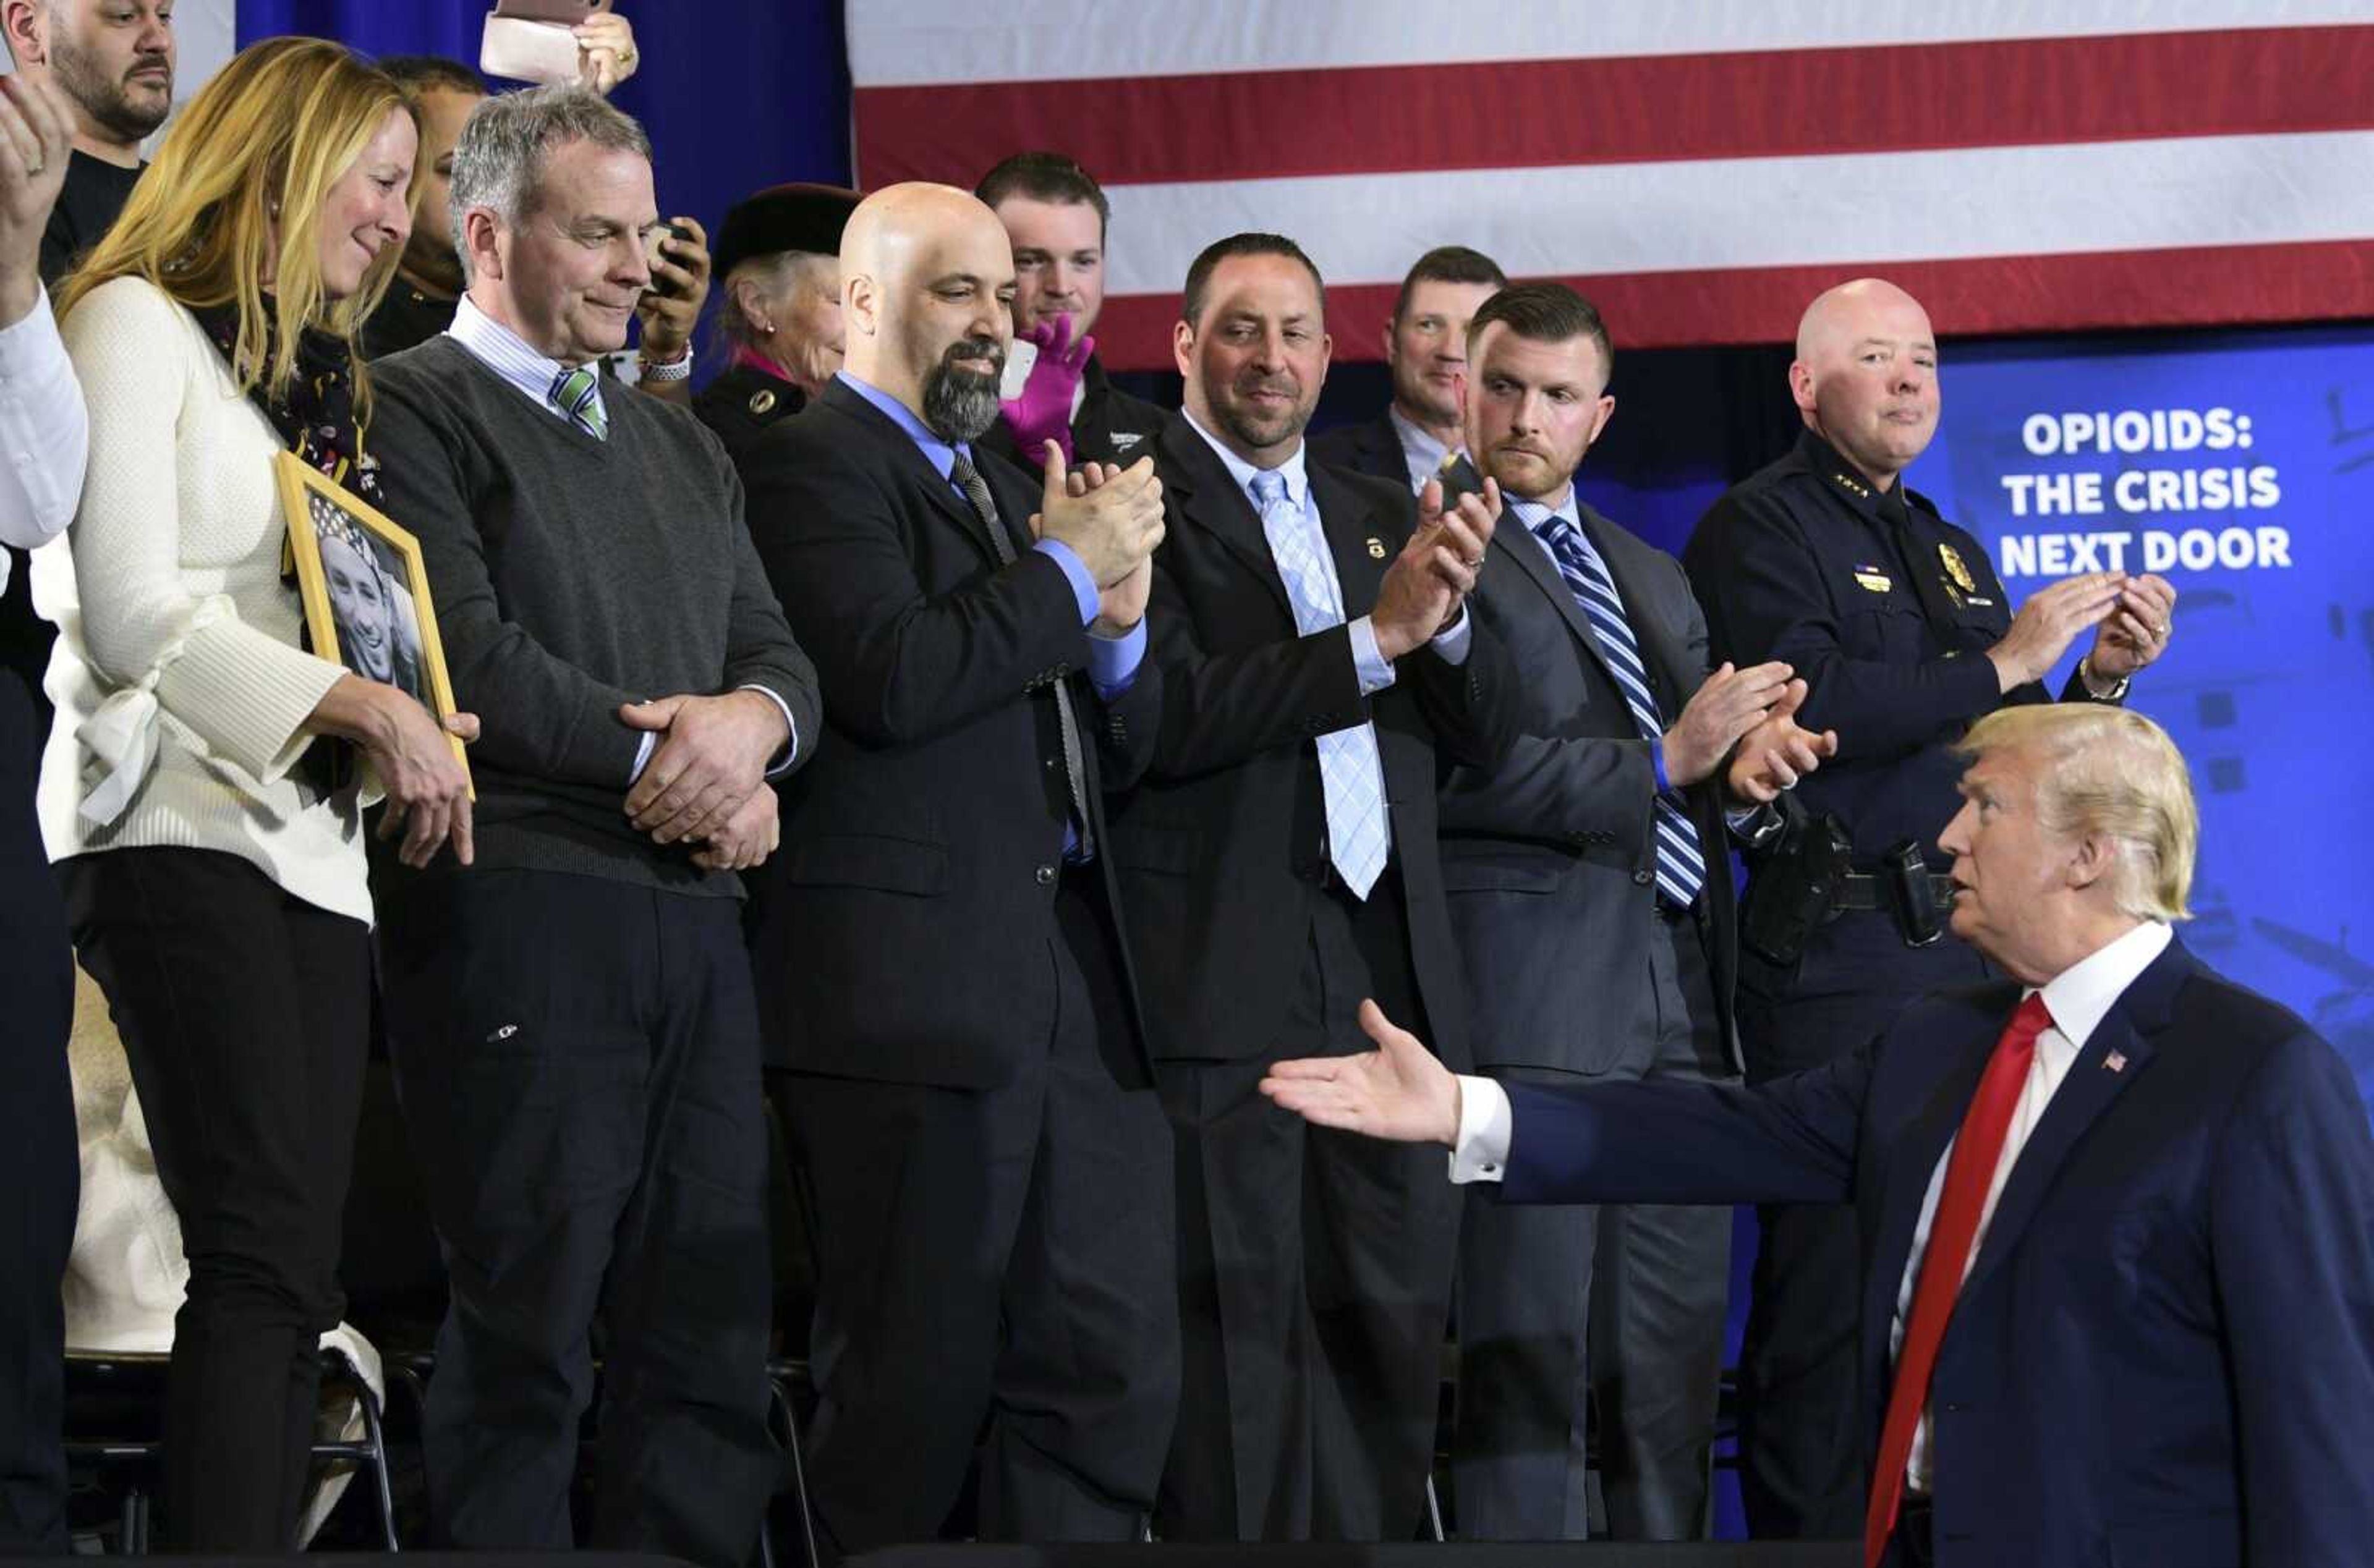
{"type": "Polygon", "coordinates": [[[1014,337],[1004,408],[983,444],[1026,467],[1056,441],[1073,463],[1135,463],[1168,418],[1113,387],[1090,332],[1104,311],[1104,237],[1113,206],[1061,152],[1016,152],[973,195],[1014,240],[1014,337]]]}

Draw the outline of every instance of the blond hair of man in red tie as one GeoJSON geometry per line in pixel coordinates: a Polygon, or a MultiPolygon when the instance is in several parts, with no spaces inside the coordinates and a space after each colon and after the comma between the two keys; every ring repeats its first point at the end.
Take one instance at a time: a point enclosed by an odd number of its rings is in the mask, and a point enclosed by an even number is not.
{"type": "Polygon", "coordinates": [[[2132,920],[2189,920],[2201,814],[2184,754],[2151,719],[2099,702],[2027,702],[2001,707],[1963,735],[1956,752],[2030,750],[2037,773],[2037,821],[2065,837],[2106,837],[2118,847],[2110,894],[2132,920]]]}

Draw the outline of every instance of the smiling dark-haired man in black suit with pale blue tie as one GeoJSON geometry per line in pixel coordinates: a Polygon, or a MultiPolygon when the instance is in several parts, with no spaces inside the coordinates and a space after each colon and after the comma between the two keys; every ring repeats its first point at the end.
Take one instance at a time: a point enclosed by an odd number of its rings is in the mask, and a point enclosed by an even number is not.
{"type": "Polygon", "coordinates": [[[1156,441],[1163,724],[1111,814],[1178,1136],[1182,1404],[1166,1540],[1410,1540],[1427,1509],[1458,1203],[1408,1150],[1261,1101],[1280,1051],[1358,1051],[1394,994],[1465,1060],[1434,783],[1503,750],[1462,610],[1498,493],[1310,463],[1318,268],[1237,235],[1187,273],[1187,408],[1156,441]]]}

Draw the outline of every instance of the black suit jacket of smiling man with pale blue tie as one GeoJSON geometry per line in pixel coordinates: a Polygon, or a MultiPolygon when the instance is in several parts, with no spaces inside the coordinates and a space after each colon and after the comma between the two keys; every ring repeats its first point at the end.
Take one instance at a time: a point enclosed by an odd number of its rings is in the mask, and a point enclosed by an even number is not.
{"type": "MultiPolygon", "coordinates": [[[[1156,444],[1168,534],[1149,624],[1161,742],[1113,814],[1159,1058],[1246,1058],[1275,1039],[1327,894],[1315,735],[1372,721],[1420,996],[1443,1060],[1465,1063],[1465,999],[1434,852],[1439,759],[1491,764],[1512,726],[1505,655],[1477,626],[1465,664],[1417,650],[1360,695],[1351,631],[1299,636],[1261,517],[1211,446],[1170,420],[1156,444]]],[[[1408,486],[1310,465],[1348,617],[1417,522],[1408,486]]],[[[1391,897],[1379,882],[1372,897],[1391,897]]]]}

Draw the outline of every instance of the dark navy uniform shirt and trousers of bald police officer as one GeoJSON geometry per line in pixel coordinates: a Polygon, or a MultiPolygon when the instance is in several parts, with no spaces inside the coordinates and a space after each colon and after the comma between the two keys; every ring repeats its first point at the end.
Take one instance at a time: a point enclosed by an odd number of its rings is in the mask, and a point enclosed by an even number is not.
{"type": "MultiPolygon", "coordinates": [[[[1894,842],[1921,842],[1935,871],[1954,818],[1954,745],[1982,714],[2046,702],[2042,686],[2004,695],[1985,650],[2011,629],[2011,595],[1985,546],[1902,482],[1885,496],[1804,432],[1735,484],[1690,534],[1683,565],[1707,610],[1712,657],[1788,659],[1807,678],[1799,721],[1837,731],[1837,757],[1797,788],[1811,814],[1837,814],[1856,871],[1894,842]]],[[[2063,700],[2087,700],[2073,674],[2063,700]]],[[[1747,856],[1750,897],[1762,873],[1747,856]]],[[[1916,996],[1968,984],[1985,963],[1951,932],[1906,946],[1885,911],[1849,911],[1814,930],[1797,963],[1740,958],[1747,1079],[1814,1067],[1868,1039],[1916,996]]],[[[1864,1528],[1854,1466],[1859,1395],[1854,1234],[1830,1207],[1757,1217],[1754,1298],[1740,1345],[1740,1497],[1759,1537],[1847,1540],[1864,1528]]]]}

